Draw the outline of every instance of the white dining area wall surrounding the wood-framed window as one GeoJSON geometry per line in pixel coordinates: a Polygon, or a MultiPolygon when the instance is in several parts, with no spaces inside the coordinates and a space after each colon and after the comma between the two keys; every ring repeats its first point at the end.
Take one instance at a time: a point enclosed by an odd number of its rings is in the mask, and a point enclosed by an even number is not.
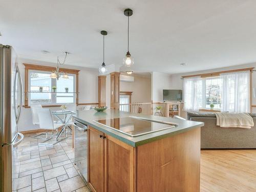
{"type": "MultiPolygon", "coordinates": [[[[37,65],[46,65],[46,66],[56,66],[55,63],[33,61],[28,59],[20,59],[19,61],[19,71],[22,76],[23,88],[25,86],[25,66],[23,63],[31,63],[37,65]]],[[[74,66],[64,66],[68,69],[77,69],[80,70],[78,75],[78,102],[79,103],[95,103],[98,102],[98,71],[90,70],[81,67],[74,66]]],[[[23,101],[24,102],[24,101],[23,101]]],[[[24,104],[24,103],[23,103],[24,104]]],[[[77,108],[81,108],[79,105],[77,108]]],[[[59,108],[50,108],[51,110],[59,110],[59,108]]],[[[30,108],[23,108],[22,115],[18,123],[18,131],[28,131],[39,129],[38,125],[33,125],[32,123],[32,114],[30,108]]]]}

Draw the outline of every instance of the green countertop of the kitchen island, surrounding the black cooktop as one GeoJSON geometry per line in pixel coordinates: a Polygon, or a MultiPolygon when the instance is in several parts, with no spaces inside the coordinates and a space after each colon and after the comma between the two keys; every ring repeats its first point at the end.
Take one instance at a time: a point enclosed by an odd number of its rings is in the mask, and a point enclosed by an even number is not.
{"type": "Polygon", "coordinates": [[[143,145],[143,144],[156,141],[165,137],[169,137],[172,135],[177,135],[183,132],[187,132],[191,129],[194,129],[196,127],[201,127],[204,125],[204,123],[202,122],[181,120],[181,119],[168,118],[168,117],[160,117],[160,116],[154,116],[154,115],[143,115],[143,114],[137,114],[137,113],[135,114],[135,113],[123,112],[119,110],[105,110],[104,112],[96,112],[94,110],[76,111],[76,114],[73,115],[73,118],[84,124],[90,125],[105,134],[108,134],[116,139],[119,139],[122,142],[125,142],[133,147],[137,147],[139,145],[143,145]],[[144,117],[152,120],[173,122],[173,123],[178,123],[178,125],[167,130],[148,133],[148,134],[137,136],[137,137],[131,137],[129,135],[120,133],[118,131],[115,131],[106,126],[103,126],[101,124],[94,122],[95,120],[100,120],[100,119],[111,119],[111,118],[129,117],[129,116],[137,116],[137,117],[144,117]]]}

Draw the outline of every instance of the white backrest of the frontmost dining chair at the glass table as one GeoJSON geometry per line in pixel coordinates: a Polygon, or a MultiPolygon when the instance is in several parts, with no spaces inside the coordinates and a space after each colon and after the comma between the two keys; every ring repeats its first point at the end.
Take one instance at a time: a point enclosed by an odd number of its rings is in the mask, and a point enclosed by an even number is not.
{"type": "Polygon", "coordinates": [[[37,109],[40,129],[54,130],[54,122],[50,109],[37,109]]]}

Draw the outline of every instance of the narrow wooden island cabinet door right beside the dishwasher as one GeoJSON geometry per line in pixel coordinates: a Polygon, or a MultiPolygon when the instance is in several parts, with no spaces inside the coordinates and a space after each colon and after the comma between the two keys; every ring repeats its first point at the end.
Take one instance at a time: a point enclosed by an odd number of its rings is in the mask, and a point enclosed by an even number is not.
{"type": "Polygon", "coordinates": [[[104,142],[103,133],[89,126],[89,185],[92,190],[103,192],[104,177],[104,142]]]}

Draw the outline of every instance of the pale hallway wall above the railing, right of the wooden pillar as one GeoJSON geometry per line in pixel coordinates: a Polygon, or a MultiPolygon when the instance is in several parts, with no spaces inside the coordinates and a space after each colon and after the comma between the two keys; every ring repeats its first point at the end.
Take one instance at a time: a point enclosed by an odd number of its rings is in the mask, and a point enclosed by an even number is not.
{"type": "Polygon", "coordinates": [[[151,78],[134,76],[134,82],[120,81],[120,91],[131,91],[132,103],[151,102],[151,78]]]}

